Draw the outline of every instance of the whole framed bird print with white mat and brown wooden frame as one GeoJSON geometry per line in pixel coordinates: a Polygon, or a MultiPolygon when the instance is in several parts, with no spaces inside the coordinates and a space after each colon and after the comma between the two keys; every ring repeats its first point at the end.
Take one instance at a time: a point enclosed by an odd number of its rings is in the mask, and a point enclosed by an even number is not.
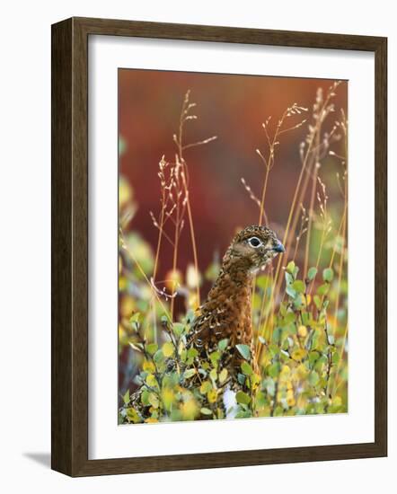
{"type": "Polygon", "coordinates": [[[53,469],[387,454],[386,46],[53,25],[53,469]]]}

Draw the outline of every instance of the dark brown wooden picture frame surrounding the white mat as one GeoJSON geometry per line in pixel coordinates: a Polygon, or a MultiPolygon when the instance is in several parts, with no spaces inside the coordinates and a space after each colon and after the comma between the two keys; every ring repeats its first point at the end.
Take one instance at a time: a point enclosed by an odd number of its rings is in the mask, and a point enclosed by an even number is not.
{"type": "Polygon", "coordinates": [[[52,26],[52,468],[71,476],[387,454],[387,39],[72,18],[52,26]],[[88,459],[88,37],[110,35],[375,53],[375,442],[88,459]]]}

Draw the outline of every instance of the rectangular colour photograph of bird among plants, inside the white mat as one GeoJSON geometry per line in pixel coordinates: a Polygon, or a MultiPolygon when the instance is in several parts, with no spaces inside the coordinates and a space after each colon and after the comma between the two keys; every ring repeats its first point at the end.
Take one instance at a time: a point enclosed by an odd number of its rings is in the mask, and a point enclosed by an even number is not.
{"type": "Polygon", "coordinates": [[[119,425],[348,413],[348,81],[118,92],[119,425]]]}

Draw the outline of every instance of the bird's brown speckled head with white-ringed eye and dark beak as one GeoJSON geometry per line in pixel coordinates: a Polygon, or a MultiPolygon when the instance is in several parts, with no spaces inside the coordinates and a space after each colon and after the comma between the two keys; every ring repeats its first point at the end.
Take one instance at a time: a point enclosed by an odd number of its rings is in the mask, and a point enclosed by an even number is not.
{"type": "Polygon", "coordinates": [[[233,264],[254,274],[284,251],[284,245],[273,230],[267,226],[251,225],[235,235],[227,254],[233,264]]]}

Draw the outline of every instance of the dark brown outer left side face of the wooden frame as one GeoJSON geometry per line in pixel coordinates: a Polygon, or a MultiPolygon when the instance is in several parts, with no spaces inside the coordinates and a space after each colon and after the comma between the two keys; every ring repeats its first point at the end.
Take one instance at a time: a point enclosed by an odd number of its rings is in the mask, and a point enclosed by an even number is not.
{"type": "Polygon", "coordinates": [[[72,21],[52,29],[51,465],[71,472],[72,21]]]}

